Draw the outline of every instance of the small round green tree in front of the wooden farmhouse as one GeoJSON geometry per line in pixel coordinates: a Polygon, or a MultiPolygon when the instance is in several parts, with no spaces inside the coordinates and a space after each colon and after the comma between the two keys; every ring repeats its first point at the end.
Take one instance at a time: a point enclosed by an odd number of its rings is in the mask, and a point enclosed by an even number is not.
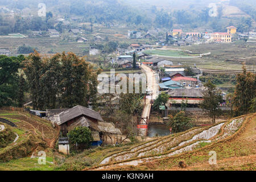
{"type": "Polygon", "coordinates": [[[90,142],[93,140],[92,133],[88,127],[75,127],[75,129],[69,131],[67,135],[72,143],[82,143],[87,147],[90,146],[90,142]]]}

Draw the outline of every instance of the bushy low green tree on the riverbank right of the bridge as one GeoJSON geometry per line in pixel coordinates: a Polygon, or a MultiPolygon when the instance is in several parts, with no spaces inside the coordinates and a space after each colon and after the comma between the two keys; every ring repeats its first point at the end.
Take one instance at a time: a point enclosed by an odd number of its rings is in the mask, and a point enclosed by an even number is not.
{"type": "Polygon", "coordinates": [[[182,132],[193,127],[191,118],[185,115],[184,111],[179,111],[174,117],[170,117],[167,126],[172,128],[175,133],[182,132]]]}

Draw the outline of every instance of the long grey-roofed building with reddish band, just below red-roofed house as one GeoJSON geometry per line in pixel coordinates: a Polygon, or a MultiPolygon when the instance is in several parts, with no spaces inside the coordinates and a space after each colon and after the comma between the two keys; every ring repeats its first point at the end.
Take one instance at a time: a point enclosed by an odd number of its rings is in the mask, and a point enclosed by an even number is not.
{"type": "Polygon", "coordinates": [[[197,107],[203,100],[203,90],[199,88],[180,88],[168,91],[169,100],[168,107],[180,106],[183,102],[187,102],[188,107],[197,107]]]}

